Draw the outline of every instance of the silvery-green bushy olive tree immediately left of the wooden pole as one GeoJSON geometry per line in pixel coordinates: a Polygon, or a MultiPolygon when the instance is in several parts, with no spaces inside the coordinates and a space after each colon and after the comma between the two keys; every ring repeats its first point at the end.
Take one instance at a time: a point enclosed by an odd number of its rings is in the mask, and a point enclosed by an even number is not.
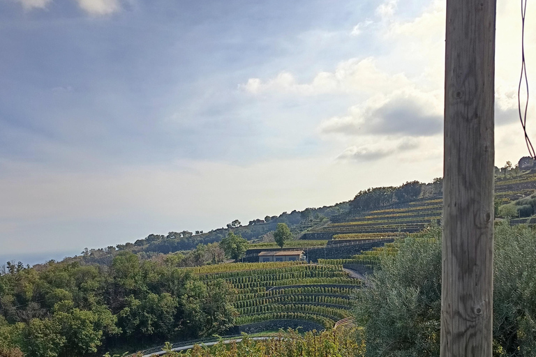
{"type": "Polygon", "coordinates": [[[397,255],[382,255],[371,287],[357,291],[355,316],[366,331],[366,356],[439,356],[441,242],[405,238],[397,255]]]}

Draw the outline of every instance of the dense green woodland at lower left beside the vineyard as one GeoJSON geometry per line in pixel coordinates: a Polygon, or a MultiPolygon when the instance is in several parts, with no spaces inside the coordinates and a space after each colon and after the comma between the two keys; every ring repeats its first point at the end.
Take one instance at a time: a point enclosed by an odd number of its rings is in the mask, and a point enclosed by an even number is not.
{"type": "Polygon", "coordinates": [[[5,266],[0,356],[85,356],[223,333],[236,315],[234,289],[224,280],[200,281],[178,268],[179,261],[177,255],[142,261],[119,252],[109,266],[5,266]]]}

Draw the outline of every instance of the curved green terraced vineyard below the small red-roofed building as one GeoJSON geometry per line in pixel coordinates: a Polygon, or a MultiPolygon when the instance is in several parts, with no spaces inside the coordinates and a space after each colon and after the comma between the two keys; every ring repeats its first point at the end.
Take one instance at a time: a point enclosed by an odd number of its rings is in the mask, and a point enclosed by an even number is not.
{"type": "Polygon", "coordinates": [[[340,264],[269,262],[191,270],[204,282],[221,278],[234,286],[237,325],[292,319],[330,328],[350,315],[350,294],[361,284],[350,278],[340,264]]]}

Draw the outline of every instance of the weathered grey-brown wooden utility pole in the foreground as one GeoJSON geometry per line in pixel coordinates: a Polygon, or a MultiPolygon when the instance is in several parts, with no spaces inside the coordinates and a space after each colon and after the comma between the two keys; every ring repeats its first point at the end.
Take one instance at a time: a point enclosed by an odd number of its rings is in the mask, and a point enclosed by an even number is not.
{"type": "Polygon", "coordinates": [[[491,357],[496,0],[447,0],[441,357],[491,357]]]}

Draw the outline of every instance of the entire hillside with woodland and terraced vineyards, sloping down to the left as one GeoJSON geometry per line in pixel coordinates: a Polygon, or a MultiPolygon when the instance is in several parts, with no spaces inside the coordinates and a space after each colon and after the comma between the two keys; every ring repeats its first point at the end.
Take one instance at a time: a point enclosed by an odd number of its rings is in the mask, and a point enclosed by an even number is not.
{"type": "MultiPolygon", "coordinates": [[[[535,172],[498,172],[496,211],[510,224],[532,221],[535,189],[535,172]]],[[[0,349],[93,356],[214,333],[331,328],[350,316],[350,296],[367,286],[359,273],[396,255],[399,238],[440,231],[441,204],[440,179],[412,181],[246,226],[151,234],[61,262],[8,264],[0,271],[0,349]],[[268,238],[282,222],[296,237],[283,249],[304,250],[312,263],[253,262],[261,251],[281,250],[268,238]],[[428,233],[417,233],[424,227],[428,233]],[[230,232],[249,238],[241,259],[251,263],[221,264],[216,243],[230,232]]]]}

